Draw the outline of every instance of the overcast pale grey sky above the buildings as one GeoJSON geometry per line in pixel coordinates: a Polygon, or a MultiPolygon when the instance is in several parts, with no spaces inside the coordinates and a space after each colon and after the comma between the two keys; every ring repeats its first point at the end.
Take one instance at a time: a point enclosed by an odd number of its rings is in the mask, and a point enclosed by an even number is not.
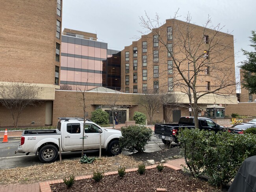
{"type": "Polygon", "coordinates": [[[165,22],[178,8],[179,20],[186,21],[189,12],[192,23],[203,26],[210,15],[213,26],[220,23],[223,32],[232,32],[236,66],[246,59],[241,48],[252,50],[248,37],[256,30],[256,0],[63,0],[62,29],[96,33],[109,49],[122,50],[141,36],[139,17],[145,11],[151,18],[158,13],[165,22]]]}

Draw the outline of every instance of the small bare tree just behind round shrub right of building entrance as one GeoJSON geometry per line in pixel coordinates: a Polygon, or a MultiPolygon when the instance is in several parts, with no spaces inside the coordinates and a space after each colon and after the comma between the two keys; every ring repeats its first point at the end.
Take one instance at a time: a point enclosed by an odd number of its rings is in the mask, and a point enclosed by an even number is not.
{"type": "Polygon", "coordinates": [[[162,107],[161,95],[155,90],[147,90],[145,94],[139,96],[139,103],[147,110],[151,123],[153,115],[162,107]]]}

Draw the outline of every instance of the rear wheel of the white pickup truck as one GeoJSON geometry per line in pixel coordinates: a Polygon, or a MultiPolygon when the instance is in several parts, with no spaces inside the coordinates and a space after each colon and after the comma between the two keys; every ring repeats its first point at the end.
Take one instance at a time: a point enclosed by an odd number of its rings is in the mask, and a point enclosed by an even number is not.
{"type": "Polygon", "coordinates": [[[45,145],[39,150],[38,157],[43,163],[54,162],[58,157],[58,149],[54,145],[45,145]]]}

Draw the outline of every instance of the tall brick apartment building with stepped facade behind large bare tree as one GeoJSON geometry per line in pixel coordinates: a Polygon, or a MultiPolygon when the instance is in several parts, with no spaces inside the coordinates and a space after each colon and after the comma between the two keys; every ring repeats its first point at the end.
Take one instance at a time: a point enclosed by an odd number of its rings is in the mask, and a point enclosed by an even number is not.
{"type": "MultiPolygon", "coordinates": [[[[219,37],[215,41],[221,41],[226,49],[216,46],[216,49],[221,50],[221,54],[218,54],[216,50],[211,50],[214,30],[194,24],[189,24],[189,29],[191,41],[200,45],[198,46],[198,52],[202,53],[200,65],[203,62],[209,63],[208,66],[205,65],[204,70],[198,72],[198,78],[200,78],[196,84],[198,93],[204,94],[215,89],[218,86],[217,81],[224,77],[228,77],[227,80],[230,82],[235,82],[233,35],[219,33],[219,37]],[[209,50],[211,50],[210,53],[209,50]],[[225,59],[223,59],[224,57],[225,59]],[[221,72],[220,68],[224,67],[226,67],[226,71],[221,72]]],[[[188,77],[189,72],[190,75],[193,74],[193,63],[186,56],[184,49],[182,49],[182,43],[179,41],[182,35],[185,34],[186,37],[186,30],[186,22],[168,19],[160,28],[154,29],[147,35],[142,35],[141,39],[132,42],[130,46],[126,46],[121,52],[121,88],[126,93],[175,93],[181,98],[179,103],[184,104],[181,111],[188,111],[189,99],[187,94],[184,94],[188,88],[179,86],[184,84],[184,80],[175,68],[171,54],[167,52],[168,48],[179,61],[184,59],[180,62],[180,70],[183,71],[184,76],[188,77]],[[192,68],[190,70],[188,70],[188,62],[192,68]]],[[[235,85],[228,87],[228,89],[222,89],[218,93],[220,92],[223,94],[222,96],[220,94],[206,94],[198,101],[202,109],[201,115],[204,115],[207,105],[237,103],[235,85]]],[[[179,115],[180,110],[176,110],[174,113],[179,115]]]]}

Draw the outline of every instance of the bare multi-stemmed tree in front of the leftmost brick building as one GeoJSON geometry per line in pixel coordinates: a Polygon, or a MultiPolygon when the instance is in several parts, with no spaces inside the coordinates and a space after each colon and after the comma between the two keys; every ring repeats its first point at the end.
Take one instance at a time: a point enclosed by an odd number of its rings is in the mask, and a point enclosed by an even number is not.
{"type": "Polygon", "coordinates": [[[20,114],[28,106],[37,106],[42,88],[29,83],[0,85],[0,103],[9,109],[14,126],[18,127],[20,114]]]}

